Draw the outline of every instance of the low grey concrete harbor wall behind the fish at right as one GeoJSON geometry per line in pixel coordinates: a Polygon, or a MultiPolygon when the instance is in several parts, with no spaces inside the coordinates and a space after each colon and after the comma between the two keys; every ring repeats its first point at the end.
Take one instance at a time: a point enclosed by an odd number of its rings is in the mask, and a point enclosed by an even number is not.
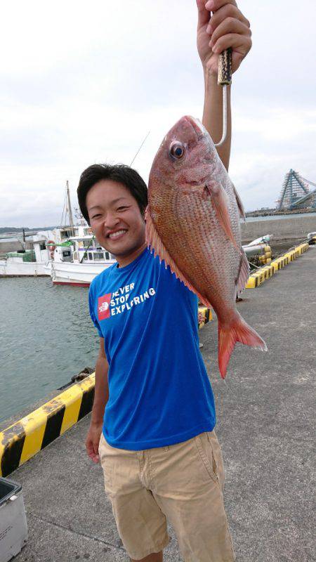
{"type": "Polygon", "coordinates": [[[276,240],[303,240],[308,233],[316,230],[316,213],[315,216],[242,222],[241,227],[243,244],[266,234],[273,235],[274,242],[276,240]]]}

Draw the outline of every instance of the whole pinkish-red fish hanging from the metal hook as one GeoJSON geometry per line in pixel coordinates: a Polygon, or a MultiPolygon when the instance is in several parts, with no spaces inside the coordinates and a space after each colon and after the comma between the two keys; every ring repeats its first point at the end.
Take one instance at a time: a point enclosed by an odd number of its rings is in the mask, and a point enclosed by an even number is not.
{"type": "Polygon", "coordinates": [[[236,308],[237,292],[249,277],[240,216],[245,216],[242,201],[211,136],[198,119],[181,117],[164,137],[150,169],[146,242],[215,311],[222,379],[237,341],[267,351],[236,308]]]}

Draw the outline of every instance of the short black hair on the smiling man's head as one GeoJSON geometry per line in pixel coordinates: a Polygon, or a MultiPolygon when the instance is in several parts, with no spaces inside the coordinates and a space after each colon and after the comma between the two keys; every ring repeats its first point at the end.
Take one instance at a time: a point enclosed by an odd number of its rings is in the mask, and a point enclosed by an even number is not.
{"type": "Polygon", "coordinates": [[[136,199],[140,213],[144,215],[147,207],[147,185],[136,170],[125,164],[92,164],[82,172],[77,188],[80,211],[88,224],[90,220],[86,208],[86,195],[100,180],[112,180],[125,185],[136,199]]]}

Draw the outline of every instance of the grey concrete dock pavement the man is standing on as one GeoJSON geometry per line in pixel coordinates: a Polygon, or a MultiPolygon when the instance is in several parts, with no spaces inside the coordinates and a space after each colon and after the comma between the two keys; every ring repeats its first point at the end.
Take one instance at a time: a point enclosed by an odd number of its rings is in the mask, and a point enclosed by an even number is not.
{"type": "MultiPolygon", "coordinates": [[[[312,412],[316,372],[316,248],[237,304],[268,352],[237,345],[224,381],[217,322],[199,333],[216,396],[225,506],[237,562],[311,562],[312,412]]],[[[8,478],[22,484],[29,540],[17,562],[128,561],[86,456],[90,415],[8,478]]],[[[164,561],[182,561],[173,528],[164,561]]]]}

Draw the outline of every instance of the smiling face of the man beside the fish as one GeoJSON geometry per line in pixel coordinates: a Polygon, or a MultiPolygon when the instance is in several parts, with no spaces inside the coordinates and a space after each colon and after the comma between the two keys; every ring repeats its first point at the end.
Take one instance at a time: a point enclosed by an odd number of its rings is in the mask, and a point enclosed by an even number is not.
{"type": "Polygon", "coordinates": [[[114,256],[129,256],[145,243],[145,221],[125,185],[101,180],[88,191],[86,208],[93,233],[114,256]]]}

